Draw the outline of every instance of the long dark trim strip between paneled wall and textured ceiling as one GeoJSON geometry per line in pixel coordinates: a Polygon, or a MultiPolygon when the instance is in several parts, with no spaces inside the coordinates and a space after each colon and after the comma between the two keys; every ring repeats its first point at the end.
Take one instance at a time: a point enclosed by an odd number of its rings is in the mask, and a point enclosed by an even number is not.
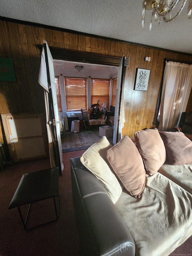
{"type": "Polygon", "coordinates": [[[24,25],[29,25],[29,26],[41,27],[41,28],[46,28],[46,29],[53,29],[53,30],[68,32],[68,33],[77,34],[77,35],[89,36],[89,37],[93,37],[93,38],[100,38],[100,39],[104,39],[104,40],[120,42],[120,43],[124,43],[124,44],[131,44],[131,45],[136,45],[136,46],[140,46],[140,47],[147,47],[147,48],[160,50],[160,51],[165,51],[165,52],[170,52],[170,53],[178,53],[178,54],[184,54],[184,55],[192,56],[191,53],[183,53],[183,52],[173,51],[173,50],[164,49],[164,48],[160,48],[160,47],[154,47],[154,46],[150,46],[150,45],[146,45],[146,44],[133,43],[133,42],[119,40],[119,39],[115,39],[115,38],[108,38],[108,37],[104,37],[104,36],[83,33],[83,32],[79,32],[79,31],[75,31],[75,30],[58,28],[58,27],[55,27],[55,26],[48,26],[48,25],[35,23],[35,22],[30,22],[30,21],[16,20],[16,19],[7,18],[7,17],[3,17],[3,16],[0,16],[0,20],[7,21],[7,22],[24,24],[24,25]]]}

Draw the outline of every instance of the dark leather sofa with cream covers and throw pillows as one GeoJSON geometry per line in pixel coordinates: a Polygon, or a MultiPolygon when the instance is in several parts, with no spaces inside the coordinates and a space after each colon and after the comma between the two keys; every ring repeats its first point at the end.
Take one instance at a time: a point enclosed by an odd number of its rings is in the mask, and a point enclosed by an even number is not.
{"type": "Polygon", "coordinates": [[[156,128],[135,141],[70,159],[80,255],[169,255],[192,235],[192,142],[156,128]]]}

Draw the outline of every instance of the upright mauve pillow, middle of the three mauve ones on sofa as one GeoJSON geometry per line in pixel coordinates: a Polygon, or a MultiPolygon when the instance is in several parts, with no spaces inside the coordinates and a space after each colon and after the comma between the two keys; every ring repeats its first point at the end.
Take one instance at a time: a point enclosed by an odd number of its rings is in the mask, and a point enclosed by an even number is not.
{"type": "Polygon", "coordinates": [[[166,150],[157,128],[135,132],[135,141],[146,171],[153,175],[164,164],[166,150]]]}

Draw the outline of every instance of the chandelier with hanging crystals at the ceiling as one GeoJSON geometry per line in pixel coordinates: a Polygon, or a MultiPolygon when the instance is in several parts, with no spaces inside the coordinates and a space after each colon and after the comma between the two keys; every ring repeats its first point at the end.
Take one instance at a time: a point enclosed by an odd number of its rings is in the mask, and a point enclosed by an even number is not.
{"type": "MultiPolygon", "coordinates": [[[[187,0],[158,0],[158,1],[146,0],[144,2],[144,7],[143,7],[142,28],[144,29],[144,26],[145,26],[146,10],[152,9],[151,22],[149,25],[149,30],[151,31],[153,16],[155,21],[158,21],[159,24],[161,20],[167,23],[172,22],[179,16],[186,2],[187,0]]],[[[189,19],[192,18],[192,8],[188,12],[188,18],[189,19]]]]}

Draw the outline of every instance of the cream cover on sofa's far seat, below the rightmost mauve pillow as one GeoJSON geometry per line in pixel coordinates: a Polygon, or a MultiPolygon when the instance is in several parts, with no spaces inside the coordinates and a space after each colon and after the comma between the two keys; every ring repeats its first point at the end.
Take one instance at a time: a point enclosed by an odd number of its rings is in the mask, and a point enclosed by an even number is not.
{"type": "Polygon", "coordinates": [[[192,164],[163,164],[158,172],[192,194],[192,164]]]}

